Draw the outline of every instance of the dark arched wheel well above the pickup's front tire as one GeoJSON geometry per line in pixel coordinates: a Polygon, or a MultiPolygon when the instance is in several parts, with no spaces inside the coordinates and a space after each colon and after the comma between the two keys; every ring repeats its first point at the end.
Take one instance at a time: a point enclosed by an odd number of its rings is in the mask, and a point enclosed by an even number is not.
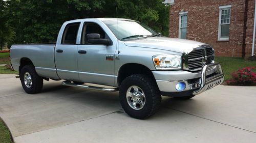
{"type": "Polygon", "coordinates": [[[145,74],[153,79],[155,79],[152,71],[148,69],[146,66],[140,64],[125,64],[123,65],[118,72],[118,86],[121,85],[122,81],[133,74],[145,74]]]}

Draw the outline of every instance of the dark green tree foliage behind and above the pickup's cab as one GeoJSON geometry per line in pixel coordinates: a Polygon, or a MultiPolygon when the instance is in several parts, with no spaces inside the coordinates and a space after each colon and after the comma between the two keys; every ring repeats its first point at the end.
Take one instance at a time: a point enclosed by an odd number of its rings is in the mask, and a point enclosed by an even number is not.
{"type": "Polygon", "coordinates": [[[5,3],[4,15],[16,33],[14,43],[55,42],[63,22],[93,17],[134,19],[168,35],[168,8],[162,0],[9,0],[1,3],[5,3]]]}

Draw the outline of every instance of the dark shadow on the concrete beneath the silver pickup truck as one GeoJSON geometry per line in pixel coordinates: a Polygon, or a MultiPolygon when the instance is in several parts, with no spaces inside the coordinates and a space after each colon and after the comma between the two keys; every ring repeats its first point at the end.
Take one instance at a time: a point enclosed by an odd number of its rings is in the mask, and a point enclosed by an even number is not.
{"type": "MultiPolygon", "coordinates": [[[[42,92],[37,96],[48,98],[61,98],[63,102],[71,102],[84,108],[91,107],[95,109],[122,109],[119,103],[119,93],[106,93],[95,90],[72,88],[61,85],[61,82],[46,83],[42,92]]],[[[194,97],[196,98],[196,97],[194,97]]],[[[172,97],[162,97],[162,103],[159,111],[151,117],[155,118],[172,118],[169,115],[173,112],[199,111],[201,103],[197,99],[177,100],[172,97]]],[[[150,118],[150,119],[151,119],[150,118]]]]}

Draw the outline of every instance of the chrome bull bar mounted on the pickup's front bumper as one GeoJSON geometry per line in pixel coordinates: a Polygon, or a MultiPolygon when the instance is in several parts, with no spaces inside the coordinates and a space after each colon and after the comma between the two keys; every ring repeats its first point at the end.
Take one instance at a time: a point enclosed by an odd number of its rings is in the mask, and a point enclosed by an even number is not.
{"type": "Polygon", "coordinates": [[[216,87],[217,85],[221,84],[224,81],[224,76],[222,72],[221,65],[219,63],[214,63],[210,65],[205,65],[202,69],[202,77],[201,77],[201,85],[200,89],[193,92],[193,95],[198,95],[203,93],[209,89],[216,87]],[[218,74],[206,78],[206,71],[211,67],[217,67],[219,70],[217,71],[218,74]]]}

